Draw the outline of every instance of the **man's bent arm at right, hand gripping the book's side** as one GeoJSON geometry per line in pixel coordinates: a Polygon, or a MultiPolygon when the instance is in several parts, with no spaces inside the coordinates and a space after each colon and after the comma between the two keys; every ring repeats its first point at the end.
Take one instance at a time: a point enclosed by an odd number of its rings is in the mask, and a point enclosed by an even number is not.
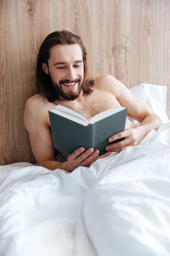
{"type": "Polygon", "coordinates": [[[108,88],[112,92],[120,105],[128,108],[128,116],[139,121],[140,126],[136,128],[128,128],[124,132],[119,132],[111,136],[108,141],[115,141],[120,138],[125,138],[115,144],[110,144],[106,147],[108,152],[120,152],[128,146],[136,146],[152,130],[157,130],[163,122],[161,119],[149,108],[146,103],[139,101],[133,97],[129,90],[120,81],[113,76],[106,75],[108,88]]]}

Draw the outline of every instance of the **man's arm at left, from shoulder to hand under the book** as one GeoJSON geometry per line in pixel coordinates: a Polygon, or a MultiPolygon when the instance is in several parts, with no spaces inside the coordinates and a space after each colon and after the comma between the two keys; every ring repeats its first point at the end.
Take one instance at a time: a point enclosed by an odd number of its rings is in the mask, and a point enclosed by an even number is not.
{"type": "Polygon", "coordinates": [[[60,168],[68,172],[78,166],[89,167],[98,158],[99,151],[90,148],[84,152],[84,148],[78,148],[68,156],[67,162],[56,161],[51,129],[47,124],[48,110],[40,96],[30,98],[25,105],[24,125],[29,132],[31,148],[35,159],[40,166],[55,170],[60,168]]]}

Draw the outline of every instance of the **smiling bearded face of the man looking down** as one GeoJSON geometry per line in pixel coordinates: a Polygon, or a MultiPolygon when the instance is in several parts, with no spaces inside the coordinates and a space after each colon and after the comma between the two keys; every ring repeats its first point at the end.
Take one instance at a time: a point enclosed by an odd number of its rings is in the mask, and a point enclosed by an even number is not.
{"type": "Polygon", "coordinates": [[[77,99],[84,78],[84,63],[79,45],[54,45],[50,50],[48,63],[47,73],[60,94],[60,99],[77,99]]]}

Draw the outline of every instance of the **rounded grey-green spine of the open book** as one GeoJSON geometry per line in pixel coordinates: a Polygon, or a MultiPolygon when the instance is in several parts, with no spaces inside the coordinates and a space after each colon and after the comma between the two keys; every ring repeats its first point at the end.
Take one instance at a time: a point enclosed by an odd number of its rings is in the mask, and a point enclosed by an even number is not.
{"type": "Polygon", "coordinates": [[[84,126],[84,148],[95,148],[95,124],[84,126]]]}

